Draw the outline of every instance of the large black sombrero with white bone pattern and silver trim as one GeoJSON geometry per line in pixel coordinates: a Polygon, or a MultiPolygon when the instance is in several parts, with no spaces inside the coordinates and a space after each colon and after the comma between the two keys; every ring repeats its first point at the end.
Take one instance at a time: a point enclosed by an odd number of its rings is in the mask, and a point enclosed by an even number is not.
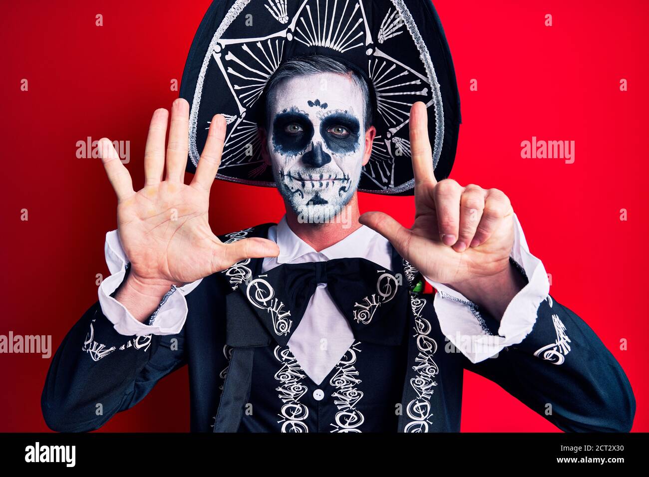
{"type": "Polygon", "coordinates": [[[310,53],[355,64],[374,88],[376,139],[358,190],[413,193],[408,117],[416,101],[428,106],[435,177],[448,177],[461,123],[459,93],[430,0],[214,0],[180,87],[191,106],[187,170],[195,171],[209,123],[220,113],[228,128],[216,177],[275,187],[260,156],[257,110],[277,67],[310,53]]]}

